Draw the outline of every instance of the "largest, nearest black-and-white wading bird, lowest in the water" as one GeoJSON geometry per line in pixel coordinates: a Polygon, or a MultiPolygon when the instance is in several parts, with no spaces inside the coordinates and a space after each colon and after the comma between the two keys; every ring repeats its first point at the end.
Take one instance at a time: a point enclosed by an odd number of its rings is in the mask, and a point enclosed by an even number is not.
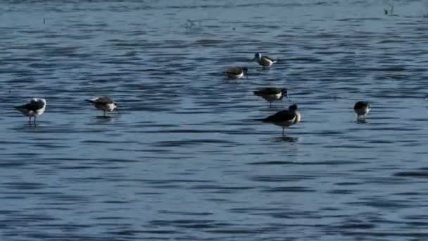
{"type": "Polygon", "coordinates": [[[279,111],[272,116],[267,116],[267,118],[259,119],[258,121],[263,121],[264,123],[272,123],[274,125],[279,125],[282,127],[282,136],[284,136],[284,129],[290,127],[291,125],[297,124],[301,121],[301,115],[298,113],[298,108],[296,104],[289,106],[289,109],[284,111],[279,111]]]}

